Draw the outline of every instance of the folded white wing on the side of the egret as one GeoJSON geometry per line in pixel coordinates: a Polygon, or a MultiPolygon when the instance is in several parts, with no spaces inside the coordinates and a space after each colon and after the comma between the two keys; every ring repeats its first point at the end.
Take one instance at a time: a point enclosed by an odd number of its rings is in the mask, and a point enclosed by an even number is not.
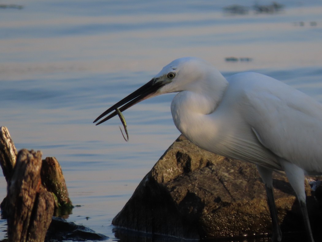
{"type": "Polygon", "coordinates": [[[263,79],[242,99],[244,118],[274,154],[308,172],[322,172],[322,105],[273,78],[263,79]]]}

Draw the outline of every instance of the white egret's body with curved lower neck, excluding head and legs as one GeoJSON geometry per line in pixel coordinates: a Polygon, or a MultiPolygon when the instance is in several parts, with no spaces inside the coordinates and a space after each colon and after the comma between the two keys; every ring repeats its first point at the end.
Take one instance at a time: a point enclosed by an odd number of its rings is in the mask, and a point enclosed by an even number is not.
{"type": "Polygon", "coordinates": [[[191,142],[270,169],[283,170],[281,157],[307,174],[322,173],[319,102],[258,73],[231,76],[223,90],[200,85],[205,93],[221,96],[220,101],[182,91],[171,103],[175,126],[191,142]]]}

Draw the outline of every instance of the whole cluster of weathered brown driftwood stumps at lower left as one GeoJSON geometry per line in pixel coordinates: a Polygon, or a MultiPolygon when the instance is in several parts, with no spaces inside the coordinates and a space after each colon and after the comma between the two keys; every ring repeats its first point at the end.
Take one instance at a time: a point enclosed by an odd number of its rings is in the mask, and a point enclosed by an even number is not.
{"type": "Polygon", "coordinates": [[[69,214],[73,207],[61,166],[54,157],[42,160],[40,151],[16,154],[8,129],[1,127],[0,164],[8,185],[1,212],[8,241],[44,241],[52,216],[69,214]]]}

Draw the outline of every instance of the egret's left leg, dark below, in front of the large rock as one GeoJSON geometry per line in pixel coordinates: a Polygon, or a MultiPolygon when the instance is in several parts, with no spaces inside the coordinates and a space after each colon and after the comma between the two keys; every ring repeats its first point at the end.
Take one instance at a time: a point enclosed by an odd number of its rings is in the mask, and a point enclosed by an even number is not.
{"type": "Polygon", "coordinates": [[[273,226],[272,241],[273,242],[281,241],[282,231],[279,227],[279,220],[277,217],[277,209],[276,209],[274,194],[273,194],[272,170],[269,170],[259,165],[257,165],[257,170],[260,173],[260,176],[266,188],[267,204],[268,204],[268,207],[270,208],[270,217],[272,218],[272,226],[273,226]]]}

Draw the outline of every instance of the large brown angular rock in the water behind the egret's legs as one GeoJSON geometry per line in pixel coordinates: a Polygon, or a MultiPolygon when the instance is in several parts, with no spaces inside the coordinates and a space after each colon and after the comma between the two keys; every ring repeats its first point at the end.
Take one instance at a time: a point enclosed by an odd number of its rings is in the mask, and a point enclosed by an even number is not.
{"type": "MultiPolygon", "coordinates": [[[[303,231],[293,189],[273,176],[282,232],[303,231]]],[[[306,184],[312,229],[321,210],[306,184]]],[[[189,239],[270,234],[264,184],[255,165],[204,151],[180,136],[143,178],[112,224],[154,235],[189,239]]]]}

